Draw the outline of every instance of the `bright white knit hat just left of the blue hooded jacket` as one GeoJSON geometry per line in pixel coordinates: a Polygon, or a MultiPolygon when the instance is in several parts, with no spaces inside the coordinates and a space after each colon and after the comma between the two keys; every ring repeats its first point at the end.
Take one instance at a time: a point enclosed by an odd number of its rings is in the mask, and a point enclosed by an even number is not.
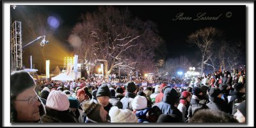
{"type": "Polygon", "coordinates": [[[147,108],[147,98],[137,95],[132,100],[132,109],[140,110],[147,108]]]}

